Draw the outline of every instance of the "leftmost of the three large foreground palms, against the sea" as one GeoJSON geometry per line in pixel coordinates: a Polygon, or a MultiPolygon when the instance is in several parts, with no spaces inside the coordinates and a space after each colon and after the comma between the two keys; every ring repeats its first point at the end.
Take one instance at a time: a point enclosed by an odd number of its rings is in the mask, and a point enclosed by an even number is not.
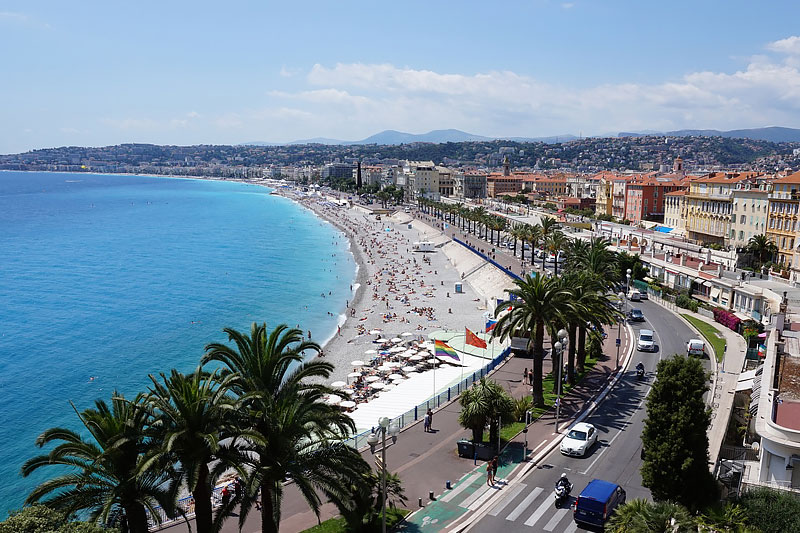
{"type": "Polygon", "coordinates": [[[141,472],[148,449],[148,416],[142,401],[141,395],[131,402],[115,391],[110,406],[97,400],[93,409],[81,413],[73,406],[91,440],[65,428],[51,428],[39,435],[36,445],[40,448],[61,443],[26,461],[22,475],[27,477],[50,465],[70,472],[33,489],[25,505],[42,502],[67,515],[87,512],[92,522],[120,527],[123,533],[147,533],[148,512],[159,519],[156,506],[174,516],[177,485],[170,487],[169,466],[141,472]],[[48,495],[51,497],[43,500],[48,495]]]}

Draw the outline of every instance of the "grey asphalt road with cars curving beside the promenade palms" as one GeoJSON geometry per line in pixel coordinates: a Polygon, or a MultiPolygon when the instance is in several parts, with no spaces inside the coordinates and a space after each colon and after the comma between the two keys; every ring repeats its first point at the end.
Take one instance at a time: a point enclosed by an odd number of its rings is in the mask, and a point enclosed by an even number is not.
{"type": "MultiPolygon", "coordinates": [[[[677,317],[648,301],[628,302],[644,312],[646,321],[631,324],[636,335],[640,329],[652,329],[658,350],[654,353],[635,351],[628,370],[605,401],[585,421],[594,424],[599,432],[598,444],[586,457],[576,458],[561,455],[558,449],[532,469],[521,482],[501,490],[508,496],[501,498],[489,512],[470,529],[471,532],[504,533],[529,531],[572,532],[581,530],[572,519],[571,504],[575,496],[595,478],[613,481],[627,492],[627,498],[650,499],[650,491],[642,487],[639,468],[641,465],[641,431],[645,418],[645,399],[655,368],[662,358],[675,353],[684,353],[686,341],[694,334],[677,317]],[[636,379],[634,367],[642,361],[645,365],[644,380],[636,379]],[[572,497],[556,508],[553,486],[566,472],[573,483],[572,497]]],[[[616,329],[609,330],[615,335],[616,329]]],[[[706,361],[708,366],[708,361],[706,361]]],[[[489,502],[492,505],[492,502],[489,502]]]]}

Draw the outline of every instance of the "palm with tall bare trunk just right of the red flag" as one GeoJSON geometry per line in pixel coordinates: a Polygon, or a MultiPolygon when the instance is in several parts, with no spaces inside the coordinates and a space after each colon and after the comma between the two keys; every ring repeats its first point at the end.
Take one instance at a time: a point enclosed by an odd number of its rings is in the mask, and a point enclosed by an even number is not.
{"type": "Polygon", "coordinates": [[[533,402],[536,407],[544,407],[542,390],[542,359],[544,358],[544,328],[558,323],[570,312],[570,292],[557,278],[543,275],[514,280],[515,288],[510,289],[512,299],[498,304],[495,316],[500,316],[492,330],[492,336],[500,339],[527,337],[528,353],[533,357],[533,402]],[[505,312],[506,309],[510,311],[505,312]]]}

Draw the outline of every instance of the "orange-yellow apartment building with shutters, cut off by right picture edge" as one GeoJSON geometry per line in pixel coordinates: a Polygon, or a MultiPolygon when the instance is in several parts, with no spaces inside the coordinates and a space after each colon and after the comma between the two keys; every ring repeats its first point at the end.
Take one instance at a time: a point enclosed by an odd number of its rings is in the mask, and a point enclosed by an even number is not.
{"type": "MultiPolygon", "coordinates": [[[[776,179],[769,193],[767,236],[778,247],[776,262],[784,269],[792,266],[800,210],[800,172],[776,179]]],[[[797,267],[796,267],[797,268],[797,267]]]]}

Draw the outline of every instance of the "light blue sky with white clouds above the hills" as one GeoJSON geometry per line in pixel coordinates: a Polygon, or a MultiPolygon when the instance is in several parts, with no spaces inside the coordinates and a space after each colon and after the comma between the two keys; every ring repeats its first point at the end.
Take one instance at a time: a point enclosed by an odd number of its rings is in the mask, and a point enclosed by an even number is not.
{"type": "Polygon", "coordinates": [[[0,0],[0,154],[800,128],[797,0],[0,0]]]}

